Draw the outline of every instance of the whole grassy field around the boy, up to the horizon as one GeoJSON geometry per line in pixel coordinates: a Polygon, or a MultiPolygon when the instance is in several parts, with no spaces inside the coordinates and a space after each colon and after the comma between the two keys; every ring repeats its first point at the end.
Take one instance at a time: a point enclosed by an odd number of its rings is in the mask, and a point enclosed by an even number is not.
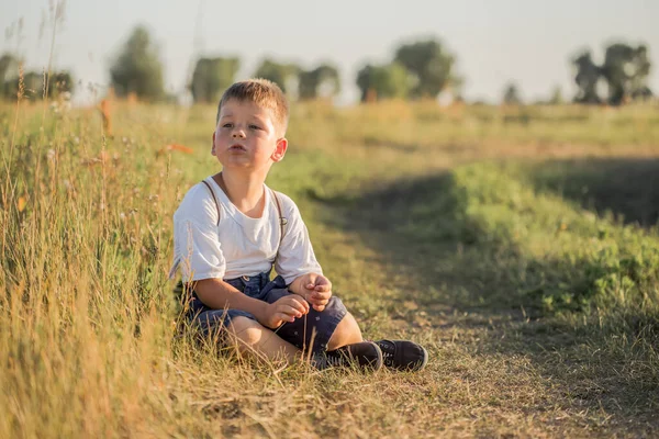
{"type": "Polygon", "coordinates": [[[431,353],[365,374],[178,336],[213,108],[3,104],[0,437],[655,437],[658,110],[294,104],[268,184],[365,335],[431,353]]]}

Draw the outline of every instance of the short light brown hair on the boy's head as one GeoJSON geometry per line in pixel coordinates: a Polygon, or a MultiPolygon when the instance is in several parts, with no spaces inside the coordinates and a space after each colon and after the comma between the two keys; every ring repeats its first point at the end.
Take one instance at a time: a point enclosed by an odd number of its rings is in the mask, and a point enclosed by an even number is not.
{"type": "Polygon", "coordinates": [[[275,130],[278,135],[283,136],[288,127],[289,106],[286,95],[275,82],[256,78],[233,83],[220,99],[215,123],[220,121],[222,106],[232,99],[238,102],[254,102],[258,106],[270,110],[275,116],[275,130]]]}

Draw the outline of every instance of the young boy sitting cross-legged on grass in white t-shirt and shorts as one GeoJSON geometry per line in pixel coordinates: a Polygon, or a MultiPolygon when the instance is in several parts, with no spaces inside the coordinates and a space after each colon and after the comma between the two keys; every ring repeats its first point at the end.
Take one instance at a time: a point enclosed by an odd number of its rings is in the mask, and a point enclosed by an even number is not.
{"type": "Polygon", "coordinates": [[[292,362],[310,350],[321,369],[422,369],[421,346],[362,339],[332,294],[297,205],[266,187],[286,155],[287,124],[287,100],[270,81],[237,82],[222,95],[211,148],[222,171],[192,187],[174,215],[172,273],[182,267],[188,317],[203,334],[222,330],[241,352],[269,360],[292,362]]]}

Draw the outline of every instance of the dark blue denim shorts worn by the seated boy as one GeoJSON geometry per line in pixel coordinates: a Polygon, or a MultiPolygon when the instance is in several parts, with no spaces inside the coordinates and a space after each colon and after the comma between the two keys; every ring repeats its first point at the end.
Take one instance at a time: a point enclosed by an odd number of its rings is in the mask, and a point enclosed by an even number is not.
{"type": "MultiPolygon", "coordinates": [[[[225,279],[224,281],[244,294],[267,303],[275,303],[279,299],[292,294],[286,288],[282,277],[278,275],[270,281],[270,273],[268,272],[252,277],[243,275],[236,279],[225,279]]],[[[340,299],[333,295],[322,312],[310,307],[305,316],[295,318],[294,322],[286,322],[272,330],[283,340],[299,349],[311,348],[313,353],[324,352],[327,350],[330,337],[332,337],[336,326],[346,314],[346,307],[340,299]],[[312,338],[313,346],[311,345],[312,338]]],[[[192,291],[188,318],[199,327],[202,335],[209,336],[220,333],[222,328],[228,326],[232,318],[237,316],[256,320],[256,317],[246,311],[209,308],[197,296],[197,293],[192,291]]]]}

